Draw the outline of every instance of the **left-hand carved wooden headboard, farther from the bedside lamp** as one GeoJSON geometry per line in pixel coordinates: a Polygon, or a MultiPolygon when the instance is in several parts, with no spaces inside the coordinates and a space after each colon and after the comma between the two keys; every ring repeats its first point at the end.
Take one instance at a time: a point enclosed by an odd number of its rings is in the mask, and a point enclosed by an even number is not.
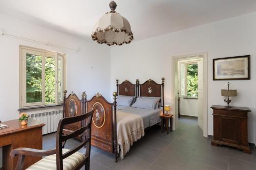
{"type": "Polygon", "coordinates": [[[121,84],[118,84],[118,80],[116,80],[116,90],[119,95],[137,96],[136,84],[132,84],[128,80],[123,81],[121,84]]]}

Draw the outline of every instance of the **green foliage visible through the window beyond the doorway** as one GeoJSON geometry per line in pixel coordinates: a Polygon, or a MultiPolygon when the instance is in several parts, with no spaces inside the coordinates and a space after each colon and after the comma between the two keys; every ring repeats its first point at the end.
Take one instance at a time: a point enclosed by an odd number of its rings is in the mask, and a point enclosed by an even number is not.
{"type": "Polygon", "coordinates": [[[198,65],[187,65],[187,96],[198,96],[198,65]]]}

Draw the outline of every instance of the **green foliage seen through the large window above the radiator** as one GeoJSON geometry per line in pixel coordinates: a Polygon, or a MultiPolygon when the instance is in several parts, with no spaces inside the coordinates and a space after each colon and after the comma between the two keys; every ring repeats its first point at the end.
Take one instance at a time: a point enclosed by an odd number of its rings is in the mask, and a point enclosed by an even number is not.
{"type": "MultiPolygon", "coordinates": [[[[42,57],[27,54],[27,103],[42,102],[42,57]]],[[[45,58],[45,100],[55,102],[55,59],[45,58]]]]}

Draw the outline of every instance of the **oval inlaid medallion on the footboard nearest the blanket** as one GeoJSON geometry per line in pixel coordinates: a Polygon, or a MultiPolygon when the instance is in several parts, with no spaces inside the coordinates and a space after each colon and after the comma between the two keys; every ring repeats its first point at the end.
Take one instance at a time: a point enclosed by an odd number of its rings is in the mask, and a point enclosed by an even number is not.
{"type": "Polygon", "coordinates": [[[93,105],[93,109],[95,109],[93,114],[93,124],[97,128],[102,128],[105,124],[105,110],[99,102],[96,102],[93,105]]]}

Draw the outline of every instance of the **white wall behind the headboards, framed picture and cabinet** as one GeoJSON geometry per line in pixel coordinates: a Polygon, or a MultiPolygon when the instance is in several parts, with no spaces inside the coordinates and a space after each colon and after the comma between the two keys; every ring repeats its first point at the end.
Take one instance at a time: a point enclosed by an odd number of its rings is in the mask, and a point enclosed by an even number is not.
{"type": "MultiPolygon", "coordinates": [[[[132,25],[133,23],[131,23],[132,25]]],[[[150,27],[148,27],[150,29],[150,27]]],[[[146,30],[145,30],[146,31],[146,30]]],[[[136,40],[136,34],[134,35],[136,40]]],[[[111,48],[111,92],[115,80],[127,79],[135,83],[151,78],[161,82],[165,78],[165,102],[173,104],[172,56],[208,53],[208,134],[213,134],[211,105],[225,105],[221,89],[227,81],[212,80],[212,59],[229,56],[251,55],[251,80],[230,81],[238,90],[231,105],[249,107],[249,142],[255,143],[255,53],[256,13],[250,13],[207,25],[182,30],[129,45],[111,48]]]]}

